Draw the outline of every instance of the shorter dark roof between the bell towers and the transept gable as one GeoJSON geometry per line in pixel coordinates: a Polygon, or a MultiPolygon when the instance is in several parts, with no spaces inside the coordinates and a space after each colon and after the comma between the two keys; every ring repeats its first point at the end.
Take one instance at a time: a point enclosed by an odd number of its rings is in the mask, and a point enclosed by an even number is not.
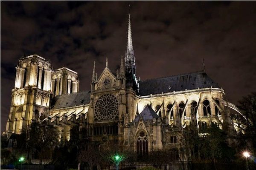
{"type": "Polygon", "coordinates": [[[52,109],[89,104],[90,91],[58,95],[52,99],[52,109]]]}

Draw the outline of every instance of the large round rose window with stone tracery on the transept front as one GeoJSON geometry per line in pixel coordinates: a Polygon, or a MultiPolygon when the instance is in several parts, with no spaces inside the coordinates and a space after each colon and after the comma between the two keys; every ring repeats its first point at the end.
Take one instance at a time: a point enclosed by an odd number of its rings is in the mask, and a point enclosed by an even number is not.
{"type": "Polygon", "coordinates": [[[98,98],[94,108],[96,120],[110,120],[118,118],[118,101],[114,95],[102,95],[98,98]]]}

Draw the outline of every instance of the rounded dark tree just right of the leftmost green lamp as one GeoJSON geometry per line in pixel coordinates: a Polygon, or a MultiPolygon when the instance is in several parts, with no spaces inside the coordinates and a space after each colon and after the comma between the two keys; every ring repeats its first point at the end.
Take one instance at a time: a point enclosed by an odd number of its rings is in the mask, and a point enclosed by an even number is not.
{"type": "Polygon", "coordinates": [[[53,126],[40,125],[32,122],[27,131],[27,147],[32,152],[38,153],[40,164],[46,150],[53,150],[59,143],[59,132],[53,126]]]}

